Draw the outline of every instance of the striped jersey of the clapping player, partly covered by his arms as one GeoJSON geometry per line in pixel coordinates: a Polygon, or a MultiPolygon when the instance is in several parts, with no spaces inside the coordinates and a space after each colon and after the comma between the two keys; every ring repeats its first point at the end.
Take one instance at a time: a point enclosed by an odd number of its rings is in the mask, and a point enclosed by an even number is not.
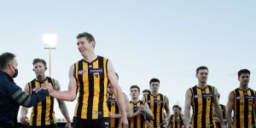
{"type": "MultiPolygon", "coordinates": [[[[130,102],[131,113],[136,113],[140,106],[143,105],[143,101],[130,102]]],[[[143,114],[137,115],[136,117],[129,120],[129,128],[144,128],[143,114]]]]}

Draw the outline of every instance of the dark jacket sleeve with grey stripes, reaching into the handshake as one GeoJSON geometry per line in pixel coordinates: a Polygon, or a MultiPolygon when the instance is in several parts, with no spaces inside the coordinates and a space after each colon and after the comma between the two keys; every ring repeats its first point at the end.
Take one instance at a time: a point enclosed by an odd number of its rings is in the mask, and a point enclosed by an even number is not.
{"type": "Polygon", "coordinates": [[[44,101],[45,97],[49,95],[48,90],[39,90],[38,93],[30,95],[29,93],[22,91],[19,86],[12,84],[9,87],[9,95],[12,99],[23,107],[31,108],[38,104],[38,102],[44,101]]]}

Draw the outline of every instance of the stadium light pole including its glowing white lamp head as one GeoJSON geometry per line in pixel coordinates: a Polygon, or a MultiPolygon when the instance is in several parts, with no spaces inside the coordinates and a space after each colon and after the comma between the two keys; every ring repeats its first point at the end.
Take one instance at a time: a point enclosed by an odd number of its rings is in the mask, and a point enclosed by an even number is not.
{"type": "Polygon", "coordinates": [[[56,34],[43,34],[44,49],[49,49],[49,77],[51,77],[51,58],[50,50],[56,49],[57,35],[56,34]]]}

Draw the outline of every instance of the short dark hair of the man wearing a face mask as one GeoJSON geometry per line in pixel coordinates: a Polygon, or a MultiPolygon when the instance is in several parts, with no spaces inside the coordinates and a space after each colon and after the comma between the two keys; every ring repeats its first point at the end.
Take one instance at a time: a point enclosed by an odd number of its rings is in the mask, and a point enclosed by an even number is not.
{"type": "Polygon", "coordinates": [[[9,52],[4,52],[0,55],[0,70],[3,70],[7,65],[14,61],[15,55],[9,52]]]}

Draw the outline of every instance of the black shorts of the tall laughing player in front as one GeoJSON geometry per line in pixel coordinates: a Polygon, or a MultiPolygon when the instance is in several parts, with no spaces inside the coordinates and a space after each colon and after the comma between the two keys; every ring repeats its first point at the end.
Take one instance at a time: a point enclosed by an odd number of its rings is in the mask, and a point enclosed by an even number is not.
{"type": "Polygon", "coordinates": [[[108,128],[108,118],[80,119],[73,117],[73,128],[108,128]]]}

